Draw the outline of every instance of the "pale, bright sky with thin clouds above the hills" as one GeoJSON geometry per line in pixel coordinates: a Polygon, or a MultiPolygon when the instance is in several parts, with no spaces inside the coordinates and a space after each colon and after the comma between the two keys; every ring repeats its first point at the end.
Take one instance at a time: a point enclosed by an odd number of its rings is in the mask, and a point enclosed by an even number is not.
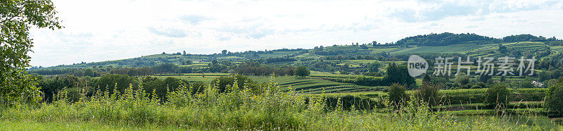
{"type": "Polygon", "coordinates": [[[429,33],[563,38],[563,1],[53,0],[61,30],[32,29],[32,66],[396,42],[429,33]]]}

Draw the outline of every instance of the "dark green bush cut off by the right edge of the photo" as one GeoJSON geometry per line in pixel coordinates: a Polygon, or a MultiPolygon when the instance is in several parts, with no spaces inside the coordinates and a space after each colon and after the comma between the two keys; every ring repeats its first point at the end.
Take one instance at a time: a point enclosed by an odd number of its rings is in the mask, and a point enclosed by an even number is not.
{"type": "Polygon", "coordinates": [[[550,87],[545,99],[545,106],[555,116],[563,116],[563,83],[550,87]]]}

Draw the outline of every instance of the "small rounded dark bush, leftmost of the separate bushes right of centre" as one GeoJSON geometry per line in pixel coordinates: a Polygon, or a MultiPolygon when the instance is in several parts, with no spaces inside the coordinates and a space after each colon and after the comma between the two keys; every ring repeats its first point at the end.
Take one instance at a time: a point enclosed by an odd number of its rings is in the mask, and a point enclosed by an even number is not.
{"type": "Polygon", "coordinates": [[[389,106],[394,106],[398,109],[405,105],[406,102],[410,100],[410,97],[406,92],[407,88],[403,85],[399,85],[397,83],[391,85],[388,90],[389,106]]]}

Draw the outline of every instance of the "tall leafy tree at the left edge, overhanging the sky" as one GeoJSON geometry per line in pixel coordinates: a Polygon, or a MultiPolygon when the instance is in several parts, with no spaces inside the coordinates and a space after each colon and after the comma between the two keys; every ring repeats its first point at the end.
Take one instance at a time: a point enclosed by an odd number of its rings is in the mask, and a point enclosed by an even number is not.
{"type": "Polygon", "coordinates": [[[50,0],[0,1],[0,105],[37,104],[41,101],[39,87],[31,75],[32,38],[30,27],[61,29],[55,6],[50,0]]]}

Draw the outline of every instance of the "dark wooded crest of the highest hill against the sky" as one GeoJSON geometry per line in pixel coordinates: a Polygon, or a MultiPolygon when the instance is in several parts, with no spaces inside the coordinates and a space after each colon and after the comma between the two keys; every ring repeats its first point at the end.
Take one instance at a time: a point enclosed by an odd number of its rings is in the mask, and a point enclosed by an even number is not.
{"type": "Polygon", "coordinates": [[[395,44],[398,45],[419,45],[419,46],[445,46],[450,44],[460,44],[462,42],[474,41],[493,41],[500,42],[500,39],[493,37],[485,37],[476,34],[453,34],[450,32],[443,32],[441,34],[431,33],[429,35],[417,35],[414,37],[406,37],[398,40],[395,44]]]}

